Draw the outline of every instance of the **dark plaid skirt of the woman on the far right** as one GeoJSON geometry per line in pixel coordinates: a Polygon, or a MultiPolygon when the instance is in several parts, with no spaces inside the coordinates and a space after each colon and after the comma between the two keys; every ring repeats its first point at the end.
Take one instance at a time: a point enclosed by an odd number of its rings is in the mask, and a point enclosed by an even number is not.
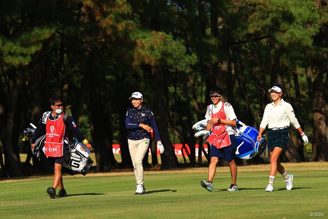
{"type": "Polygon", "coordinates": [[[268,148],[272,151],[275,147],[287,149],[289,129],[268,130],[268,148]]]}

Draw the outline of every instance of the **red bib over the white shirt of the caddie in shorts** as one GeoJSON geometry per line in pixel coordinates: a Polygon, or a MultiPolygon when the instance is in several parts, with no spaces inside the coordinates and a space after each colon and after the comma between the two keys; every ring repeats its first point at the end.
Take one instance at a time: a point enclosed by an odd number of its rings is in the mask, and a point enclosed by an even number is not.
{"type": "MultiPolygon", "coordinates": [[[[224,102],[222,102],[222,107],[217,113],[213,113],[212,110],[212,118],[220,118],[222,120],[227,120],[227,115],[224,112],[224,102]]],[[[231,145],[229,133],[221,123],[215,123],[212,125],[212,134],[206,140],[208,143],[215,146],[217,149],[228,147],[231,145]]]]}

